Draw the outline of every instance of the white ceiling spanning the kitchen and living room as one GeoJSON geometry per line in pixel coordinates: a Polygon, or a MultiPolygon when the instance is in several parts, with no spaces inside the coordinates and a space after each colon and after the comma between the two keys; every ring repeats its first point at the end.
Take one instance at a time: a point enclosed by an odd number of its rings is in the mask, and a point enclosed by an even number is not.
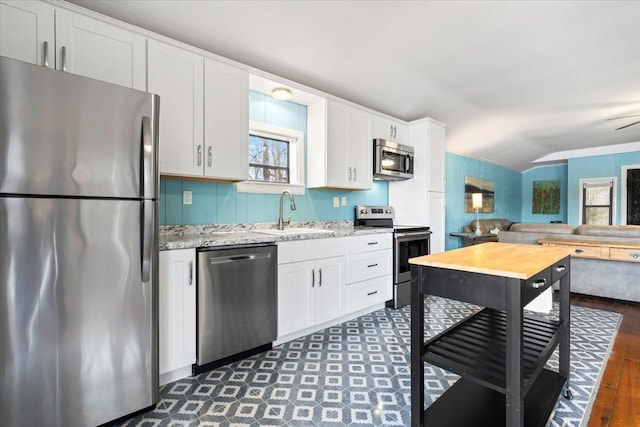
{"type": "Polygon", "coordinates": [[[640,1],[71,0],[404,119],[515,170],[640,141],[640,1]]]}

